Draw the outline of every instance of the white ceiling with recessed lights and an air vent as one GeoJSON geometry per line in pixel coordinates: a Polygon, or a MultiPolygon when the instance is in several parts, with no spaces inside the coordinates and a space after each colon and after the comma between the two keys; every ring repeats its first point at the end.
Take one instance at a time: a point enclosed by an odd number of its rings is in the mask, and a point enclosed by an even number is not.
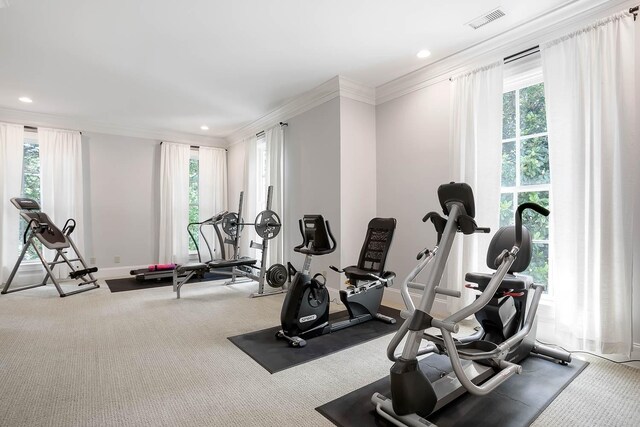
{"type": "Polygon", "coordinates": [[[9,0],[0,108],[226,136],[336,75],[376,87],[576,1],[9,0]]]}

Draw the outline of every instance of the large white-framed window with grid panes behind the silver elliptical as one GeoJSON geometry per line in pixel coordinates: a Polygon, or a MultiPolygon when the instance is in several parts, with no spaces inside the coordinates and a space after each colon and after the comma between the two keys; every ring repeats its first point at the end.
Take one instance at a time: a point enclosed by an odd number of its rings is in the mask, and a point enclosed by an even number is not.
{"type": "MultiPolygon", "coordinates": [[[[551,190],[544,84],[521,83],[504,93],[502,105],[500,226],[513,223],[514,209],[521,203],[548,208],[551,190]]],[[[523,223],[533,239],[533,256],[525,274],[549,292],[549,219],[527,211],[523,223]]]]}

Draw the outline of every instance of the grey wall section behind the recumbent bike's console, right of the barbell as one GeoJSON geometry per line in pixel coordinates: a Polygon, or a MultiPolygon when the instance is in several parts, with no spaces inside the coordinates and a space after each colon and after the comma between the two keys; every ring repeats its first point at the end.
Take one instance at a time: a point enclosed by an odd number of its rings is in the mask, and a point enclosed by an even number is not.
{"type": "Polygon", "coordinates": [[[340,264],[340,101],[334,98],[287,120],[285,128],[284,218],[285,260],[300,269],[304,256],[293,252],[302,242],[298,220],[322,214],[338,240],[336,251],[314,258],[314,272],[327,273],[327,285],[339,288],[329,265],[340,264]]]}

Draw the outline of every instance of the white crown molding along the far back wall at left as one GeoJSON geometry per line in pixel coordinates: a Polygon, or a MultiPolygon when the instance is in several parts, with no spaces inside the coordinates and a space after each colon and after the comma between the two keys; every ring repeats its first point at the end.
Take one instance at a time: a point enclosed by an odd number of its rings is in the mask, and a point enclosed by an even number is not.
{"type": "Polygon", "coordinates": [[[74,129],[83,132],[104,133],[109,135],[154,139],[158,141],[182,142],[185,144],[206,145],[221,148],[227,146],[227,141],[224,138],[220,137],[208,137],[170,130],[117,126],[110,123],[76,119],[56,114],[12,110],[9,108],[0,108],[0,120],[11,123],[19,123],[25,126],[46,126],[52,128],[74,129]]]}

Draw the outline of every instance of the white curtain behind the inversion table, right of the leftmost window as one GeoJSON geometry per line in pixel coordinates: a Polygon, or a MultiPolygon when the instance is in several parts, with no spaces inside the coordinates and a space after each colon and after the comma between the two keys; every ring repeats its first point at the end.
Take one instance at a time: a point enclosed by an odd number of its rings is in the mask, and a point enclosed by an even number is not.
{"type": "MultiPolygon", "coordinates": [[[[60,229],[67,219],[76,221],[71,238],[84,256],[82,135],[78,131],[38,128],[38,143],[42,211],[60,229]]],[[[55,254],[48,250],[45,253],[47,259],[55,254]]],[[[68,268],[60,265],[54,272],[66,277],[68,268]]]]}

